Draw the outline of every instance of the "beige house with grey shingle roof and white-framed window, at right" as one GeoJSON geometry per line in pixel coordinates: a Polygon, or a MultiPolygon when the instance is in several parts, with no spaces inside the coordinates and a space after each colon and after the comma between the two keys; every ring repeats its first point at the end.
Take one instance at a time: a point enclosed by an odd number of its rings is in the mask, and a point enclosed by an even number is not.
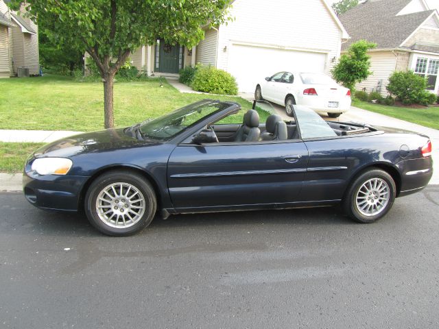
{"type": "Polygon", "coordinates": [[[357,90],[388,95],[385,86],[394,71],[412,70],[427,77],[432,93],[439,89],[439,15],[424,0],[368,0],[340,16],[352,42],[368,40],[373,74],[357,90]]]}

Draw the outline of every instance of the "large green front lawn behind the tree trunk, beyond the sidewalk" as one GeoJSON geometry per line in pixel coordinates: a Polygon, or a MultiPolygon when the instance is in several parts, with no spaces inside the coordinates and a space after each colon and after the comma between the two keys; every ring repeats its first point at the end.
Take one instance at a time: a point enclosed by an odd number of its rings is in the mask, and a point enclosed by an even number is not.
{"type": "MultiPolygon", "coordinates": [[[[104,127],[104,92],[100,82],[75,82],[46,75],[0,80],[0,129],[93,131],[104,127]]],[[[115,83],[115,126],[126,127],[200,99],[233,100],[244,110],[252,104],[241,97],[183,94],[157,79],[115,83]]],[[[269,113],[259,110],[261,121],[269,113]]]]}

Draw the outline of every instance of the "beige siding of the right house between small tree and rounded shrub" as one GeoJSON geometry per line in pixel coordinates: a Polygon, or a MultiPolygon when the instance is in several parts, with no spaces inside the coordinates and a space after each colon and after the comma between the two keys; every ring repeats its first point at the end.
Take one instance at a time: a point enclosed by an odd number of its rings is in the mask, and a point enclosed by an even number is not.
{"type": "Polygon", "coordinates": [[[388,95],[388,91],[385,86],[389,83],[389,77],[396,68],[396,56],[391,51],[372,52],[370,54],[370,71],[372,75],[368,79],[360,84],[357,84],[355,88],[357,90],[363,90],[366,88],[366,92],[377,91],[377,86],[381,80],[381,95],[388,95]]]}

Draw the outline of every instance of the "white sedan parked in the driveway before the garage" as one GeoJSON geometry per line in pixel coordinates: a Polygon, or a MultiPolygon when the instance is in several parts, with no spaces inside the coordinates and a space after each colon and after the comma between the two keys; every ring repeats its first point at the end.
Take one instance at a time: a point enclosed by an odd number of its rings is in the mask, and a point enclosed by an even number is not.
{"type": "Polygon", "coordinates": [[[276,73],[257,84],[254,98],[285,106],[290,117],[293,104],[307,106],[318,113],[326,112],[331,118],[340,117],[351,107],[351,90],[323,73],[276,73]]]}

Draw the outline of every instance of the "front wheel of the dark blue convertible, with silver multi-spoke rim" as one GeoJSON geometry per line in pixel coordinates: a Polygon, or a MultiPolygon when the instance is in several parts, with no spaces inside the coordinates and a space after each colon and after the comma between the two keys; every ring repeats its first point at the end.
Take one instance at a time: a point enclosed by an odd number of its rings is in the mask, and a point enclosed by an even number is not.
{"type": "Polygon", "coordinates": [[[129,171],[110,171],[100,175],[89,186],[84,204],[91,225],[99,232],[110,236],[128,236],[141,231],[154,219],[156,208],[154,188],[141,175],[129,171]],[[109,186],[114,190],[107,190],[109,186]],[[104,191],[109,194],[105,194],[104,191]],[[97,201],[102,193],[104,195],[97,201]],[[102,198],[108,201],[102,201],[102,198]],[[101,208],[99,213],[98,207],[101,208]],[[108,219],[110,215],[117,215],[117,219],[108,219]],[[119,226],[120,217],[122,218],[119,226]],[[112,220],[115,220],[115,223],[112,223],[112,220]]]}

